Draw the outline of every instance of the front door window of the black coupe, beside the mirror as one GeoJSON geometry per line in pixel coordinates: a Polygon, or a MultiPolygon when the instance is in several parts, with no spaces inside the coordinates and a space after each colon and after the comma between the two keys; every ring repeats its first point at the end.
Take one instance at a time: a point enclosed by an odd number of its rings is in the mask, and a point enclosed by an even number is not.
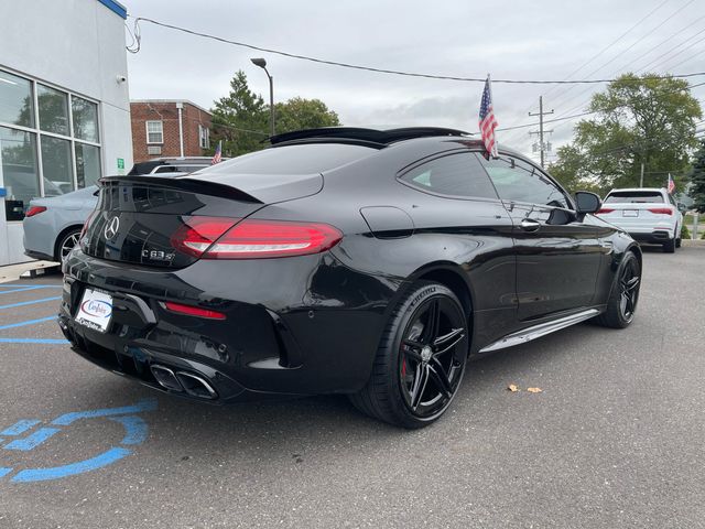
{"type": "Polygon", "coordinates": [[[570,208],[563,192],[549,177],[534,166],[514,160],[482,159],[497,193],[503,201],[529,202],[544,206],[570,208]]]}

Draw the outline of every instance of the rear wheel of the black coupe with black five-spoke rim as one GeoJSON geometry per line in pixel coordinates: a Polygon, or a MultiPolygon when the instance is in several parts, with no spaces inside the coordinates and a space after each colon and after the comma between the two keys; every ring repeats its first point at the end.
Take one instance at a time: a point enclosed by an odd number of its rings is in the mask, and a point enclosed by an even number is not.
{"type": "Polygon", "coordinates": [[[455,398],[469,347],[468,317],[446,287],[419,282],[384,327],[367,385],[350,396],[361,412],[408,429],[436,421],[455,398]]]}

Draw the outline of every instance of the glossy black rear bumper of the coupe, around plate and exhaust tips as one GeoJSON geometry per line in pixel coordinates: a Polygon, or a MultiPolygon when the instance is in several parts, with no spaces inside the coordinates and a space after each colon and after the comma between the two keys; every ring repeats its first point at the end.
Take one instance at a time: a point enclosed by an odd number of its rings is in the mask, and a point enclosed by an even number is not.
{"type": "Polygon", "coordinates": [[[203,400],[216,402],[358,390],[369,378],[394,294],[389,281],[361,276],[326,253],[202,260],[165,271],[75,250],[64,272],[59,326],[76,353],[161,390],[155,365],[195,375],[217,395],[203,400]],[[106,333],[74,321],[86,287],[112,295],[106,333]],[[219,311],[226,320],[175,314],[164,301],[219,311]]]}

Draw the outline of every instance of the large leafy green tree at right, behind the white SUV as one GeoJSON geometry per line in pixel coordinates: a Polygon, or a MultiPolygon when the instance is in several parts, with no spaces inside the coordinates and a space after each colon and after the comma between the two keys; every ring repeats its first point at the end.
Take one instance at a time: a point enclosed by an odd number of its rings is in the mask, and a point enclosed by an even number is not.
{"type": "MultiPolygon", "coordinates": [[[[663,186],[668,173],[683,174],[697,147],[697,99],[683,79],[626,74],[595,94],[590,119],[575,127],[572,144],[558,149],[551,171],[572,187],[576,183],[601,193],[633,187],[644,166],[644,186],[663,186]]],[[[683,176],[676,176],[682,188],[683,176]]]]}

